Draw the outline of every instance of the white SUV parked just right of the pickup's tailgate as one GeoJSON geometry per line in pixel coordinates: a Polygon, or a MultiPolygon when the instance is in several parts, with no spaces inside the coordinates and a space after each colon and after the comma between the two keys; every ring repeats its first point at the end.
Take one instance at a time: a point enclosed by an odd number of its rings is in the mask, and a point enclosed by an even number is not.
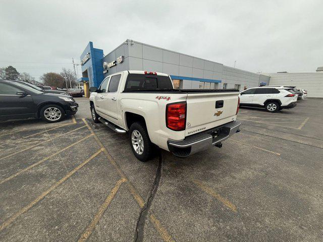
{"type": "Polygon", "coordinates": [[[253,87],[240,93],[240,106],[264,107],[268,112],[296,106],[297,95],[292,88],[253,87]]]}

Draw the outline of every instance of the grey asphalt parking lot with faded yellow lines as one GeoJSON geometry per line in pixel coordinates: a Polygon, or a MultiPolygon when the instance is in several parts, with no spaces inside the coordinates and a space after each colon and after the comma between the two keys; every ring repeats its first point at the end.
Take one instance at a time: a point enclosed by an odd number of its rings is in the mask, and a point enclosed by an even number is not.
{"type": "Polygon", "coordinates": [[[322,99],[241,108],[221,149],[146,163],[79,104],[0,123],[1,241],[323,241],[322,99]]]}

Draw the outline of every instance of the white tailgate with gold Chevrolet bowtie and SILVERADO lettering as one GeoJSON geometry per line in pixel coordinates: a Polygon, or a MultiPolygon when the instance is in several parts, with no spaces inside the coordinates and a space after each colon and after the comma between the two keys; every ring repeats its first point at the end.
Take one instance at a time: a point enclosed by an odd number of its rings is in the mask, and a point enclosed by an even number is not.
{"type": "Polygon", "coordinates": [[[188,93],[185,136],[235,120],[238,95],[239,92],[188,93]]]}

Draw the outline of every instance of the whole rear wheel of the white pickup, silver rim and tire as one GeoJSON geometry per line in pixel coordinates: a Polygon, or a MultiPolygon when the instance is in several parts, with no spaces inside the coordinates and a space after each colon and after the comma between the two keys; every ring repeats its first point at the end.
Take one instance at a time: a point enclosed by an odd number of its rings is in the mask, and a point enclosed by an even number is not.
{"type": "Polygon", "coordinates": [[[152,157],[151,143],[146,126],[142,122],[133,123],[129,130],[129,141],[132,152],[140,161],[147,161],[152,157]]]}

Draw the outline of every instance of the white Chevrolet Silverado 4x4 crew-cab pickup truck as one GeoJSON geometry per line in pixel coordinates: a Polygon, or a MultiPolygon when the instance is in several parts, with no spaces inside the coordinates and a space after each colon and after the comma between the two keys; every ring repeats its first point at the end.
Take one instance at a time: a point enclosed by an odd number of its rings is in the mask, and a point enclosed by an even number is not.
{"type": "Polygon", "coordinates": [[[90,88],[94,123],[129,133],[134,155],[148,160],[157,146],[187,157],[239,132],[239,90],[174,89],[169,75],[123,71],[90,88]]]}

